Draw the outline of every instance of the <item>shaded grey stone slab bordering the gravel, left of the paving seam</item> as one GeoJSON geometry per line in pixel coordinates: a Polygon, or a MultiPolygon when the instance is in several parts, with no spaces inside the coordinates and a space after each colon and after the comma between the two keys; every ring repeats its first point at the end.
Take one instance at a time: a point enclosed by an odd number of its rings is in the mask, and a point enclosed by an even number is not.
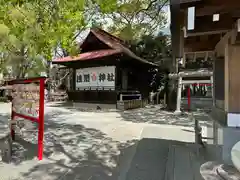
{"type": "Polygon", "coordinates": [[[163,180],[169,141],[142,139],[133,157],[126,180],[163,180]]]}

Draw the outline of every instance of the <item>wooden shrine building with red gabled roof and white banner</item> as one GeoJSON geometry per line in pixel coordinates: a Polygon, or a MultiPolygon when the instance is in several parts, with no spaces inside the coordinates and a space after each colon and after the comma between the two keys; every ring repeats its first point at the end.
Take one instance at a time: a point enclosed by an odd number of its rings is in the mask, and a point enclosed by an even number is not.
{"type": "Polygon", "coordinates": [[[148,97],[149,70],[157,65],[136,56],[124,41],[94,28],[80,49],[78,56],[53,60],[53,64],[72,71],[67,90],[69,100],[116,104],[120,97],[121,100],[148,97]]]}

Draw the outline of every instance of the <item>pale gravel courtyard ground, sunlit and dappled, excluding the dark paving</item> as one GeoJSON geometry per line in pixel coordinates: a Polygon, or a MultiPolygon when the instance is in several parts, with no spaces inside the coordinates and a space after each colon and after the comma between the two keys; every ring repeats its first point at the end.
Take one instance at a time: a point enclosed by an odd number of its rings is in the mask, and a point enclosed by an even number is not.
{"type": "MultiPolygon", "coordinates": [[[[0,179],[124,180],[140,139],[194,141],[183,131],[193,122],[159,109],[82,112],[46,105],[44,159],[36,158],[36,131],[26,131],[14,142],[12,163],[0,162],[0,179]]],[[[0,104],[0,118],[9,113],[10,104],[0,104]]]]}

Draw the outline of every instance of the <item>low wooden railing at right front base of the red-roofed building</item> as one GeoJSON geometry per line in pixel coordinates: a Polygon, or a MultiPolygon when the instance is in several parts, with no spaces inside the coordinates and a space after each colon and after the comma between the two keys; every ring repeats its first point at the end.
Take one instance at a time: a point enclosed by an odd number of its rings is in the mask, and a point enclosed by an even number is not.
{"type": "Polygon", "coordinates": [[[148,104],[148,100],[125,100],[125,101],[117,101],[117,109],[119,110],[128,110],[128,109],[136,109],[145,107],[148,104]]]}

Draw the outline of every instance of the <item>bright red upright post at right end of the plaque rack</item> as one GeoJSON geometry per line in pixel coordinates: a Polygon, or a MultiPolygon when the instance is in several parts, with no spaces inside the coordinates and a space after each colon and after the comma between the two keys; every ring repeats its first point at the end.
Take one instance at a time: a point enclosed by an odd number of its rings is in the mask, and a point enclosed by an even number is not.
{"type": "Polygon", "coordinates": [[[44,132],[44,85],[45,79],[40,79],[39,122],[38,122],[38,159],[43,158],[43,132],[44,132]]]}

